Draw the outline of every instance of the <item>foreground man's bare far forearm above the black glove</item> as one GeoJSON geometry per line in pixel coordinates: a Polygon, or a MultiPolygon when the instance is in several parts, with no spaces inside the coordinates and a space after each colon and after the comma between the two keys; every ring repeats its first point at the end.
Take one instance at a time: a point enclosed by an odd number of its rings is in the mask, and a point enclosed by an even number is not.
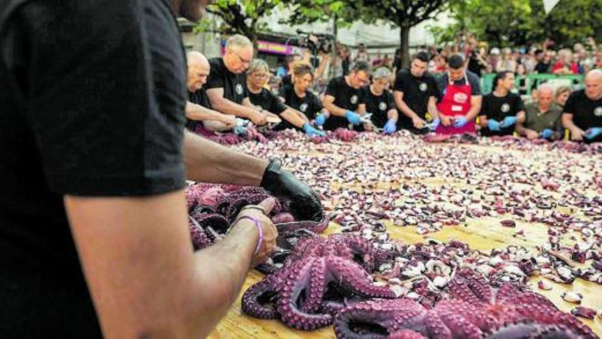
{"type": "Polygon", "coordinates": [[[259,186],[267,161],[185,131],[184,163],[190,180],[259,186]]]}

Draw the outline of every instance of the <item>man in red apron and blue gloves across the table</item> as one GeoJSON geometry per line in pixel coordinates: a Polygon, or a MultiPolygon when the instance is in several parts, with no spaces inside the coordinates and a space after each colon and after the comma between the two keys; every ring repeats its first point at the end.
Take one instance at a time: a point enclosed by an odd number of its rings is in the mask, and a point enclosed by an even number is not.
{"type": "Polygon", "coordinates": [[[475,117],[481,110],[480,79],[466,70],[462,55],[447,59],[447,73],[437,79],[441,124],[438,134],[475,133],[475,117]]]}

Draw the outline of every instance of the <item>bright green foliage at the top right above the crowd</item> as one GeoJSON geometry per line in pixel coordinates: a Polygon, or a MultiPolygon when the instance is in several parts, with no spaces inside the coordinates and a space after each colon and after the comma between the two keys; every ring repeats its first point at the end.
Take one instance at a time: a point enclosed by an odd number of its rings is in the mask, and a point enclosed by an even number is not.
{"type": "Polygon", "coordinates": [[[451,0],[457,22],[433,32],[439,42],[466,30],[501,47],[528,46],[546,38],[568,47],[602,34],[601,7],[600,0],[561,0],[545,14],[541,0],[451,0]]]}

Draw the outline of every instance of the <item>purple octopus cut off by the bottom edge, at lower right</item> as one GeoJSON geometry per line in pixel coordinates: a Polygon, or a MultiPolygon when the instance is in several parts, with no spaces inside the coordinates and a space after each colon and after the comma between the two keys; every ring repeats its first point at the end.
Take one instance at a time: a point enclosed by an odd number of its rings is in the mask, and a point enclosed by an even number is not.
{"type": "Polygon", "coordinates": [[[492,288],[458,271],[448,297],[428,308],[408,298],[364,301],[335,318],[337,338],[597,338],[577,318],[519,284],[492,288]]]}

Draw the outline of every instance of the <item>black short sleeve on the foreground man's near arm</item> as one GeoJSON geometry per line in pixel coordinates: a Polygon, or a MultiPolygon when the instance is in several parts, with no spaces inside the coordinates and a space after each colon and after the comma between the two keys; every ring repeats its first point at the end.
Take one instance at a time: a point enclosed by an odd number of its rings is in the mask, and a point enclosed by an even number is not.
{"type": "Polygon", "coordinates": [[[162,16],[168,6],[136,6],[87,1],[77,15],[75,6],[36,1],[14,14],[27,65],[15,87],[58,194],[144,196],[185,186],[183,49],[173,18],[162,16]],[[146,25],[154,38],[145,38],[146,25]],[[157,53],[169,65],[155,67],[157,53]]]}

